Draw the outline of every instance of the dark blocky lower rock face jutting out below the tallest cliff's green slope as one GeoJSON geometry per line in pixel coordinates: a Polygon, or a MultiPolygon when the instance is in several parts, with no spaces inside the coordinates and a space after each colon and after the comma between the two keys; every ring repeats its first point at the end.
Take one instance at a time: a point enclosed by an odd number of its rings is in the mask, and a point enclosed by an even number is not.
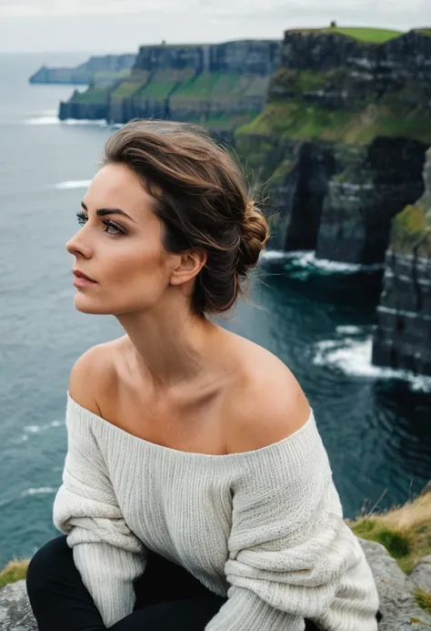
{"type": "Polygon", "coordinates": [[[316,256],[364,265],[382,263],[392,219],[423,192],[426,144],[376,137],[339,147],[336,176],[328,183],[316,256]]]}

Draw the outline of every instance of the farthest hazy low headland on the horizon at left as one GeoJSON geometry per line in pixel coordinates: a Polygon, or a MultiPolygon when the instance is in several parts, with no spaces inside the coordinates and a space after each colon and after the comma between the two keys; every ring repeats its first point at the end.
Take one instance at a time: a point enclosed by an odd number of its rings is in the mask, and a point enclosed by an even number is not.
{"type": "Polygon", "coordinates": [[[50,68],[42,66],[28,79],[35,83],[61,83],[87,86],[94,82],[95,86],[110,85],[116,78],[128,76],[135,64],[135,55],[91,56],[84,64],[76,67],[50,68]]]}

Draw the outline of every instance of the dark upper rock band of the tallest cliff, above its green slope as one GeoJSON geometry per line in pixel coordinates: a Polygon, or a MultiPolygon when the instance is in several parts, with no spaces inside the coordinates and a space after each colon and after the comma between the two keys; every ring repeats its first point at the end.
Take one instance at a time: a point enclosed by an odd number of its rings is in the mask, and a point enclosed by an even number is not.
{"type": "Polygon", "coordinates": [[[331,31],[286,31],[270,98],[303,97],[319,107],[354,110],[396,93],[400,104],[427,106],[431,36],[420,31],[376,45],[331,31]],[[304,75],[306,72],[306,75],[304,75]],[[300,76],[302,85],[298,85],[300,76]]]}

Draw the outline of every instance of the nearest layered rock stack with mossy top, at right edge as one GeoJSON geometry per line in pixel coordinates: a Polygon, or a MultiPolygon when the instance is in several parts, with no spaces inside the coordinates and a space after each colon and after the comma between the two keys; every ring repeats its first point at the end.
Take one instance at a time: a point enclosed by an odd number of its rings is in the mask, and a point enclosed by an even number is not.
{"type": "Polygon", "coordinates": [[[373,362],[431,375],[431,149],[424,182],[423,197],[392,226],[373,362]]]}

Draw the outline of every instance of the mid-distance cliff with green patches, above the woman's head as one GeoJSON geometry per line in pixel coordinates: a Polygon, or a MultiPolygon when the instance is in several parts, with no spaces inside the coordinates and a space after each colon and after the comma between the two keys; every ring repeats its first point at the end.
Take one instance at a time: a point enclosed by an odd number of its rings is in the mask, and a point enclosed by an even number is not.
{"type": "Polygon", "coordinates": [[[265,106],[280,42],[241,40],[215,45],[141,46],[131,75],[101,92],[90,88],[61,103],[61,119],[112,123],[135,117],[193,120],[233,131],[265,106]]]}

